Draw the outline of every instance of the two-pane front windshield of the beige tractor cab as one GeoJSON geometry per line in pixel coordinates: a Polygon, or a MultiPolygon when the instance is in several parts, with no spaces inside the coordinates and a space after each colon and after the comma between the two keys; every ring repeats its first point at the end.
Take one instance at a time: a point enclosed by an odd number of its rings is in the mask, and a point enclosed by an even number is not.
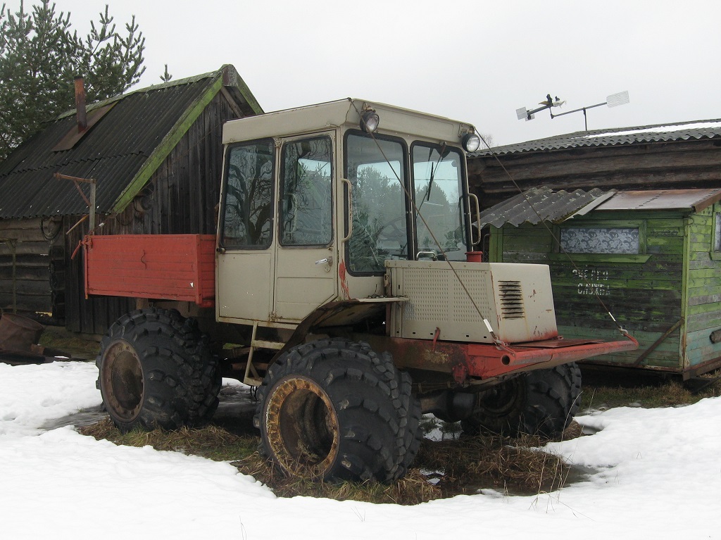
{"type": "Polygon", "coordinates": [[[416,142],[409,152],[402,139],[349,132],[348,270],[377,275],[384,273],[385,260],[465,260],[463,171],[459,149],[416,142]]]}

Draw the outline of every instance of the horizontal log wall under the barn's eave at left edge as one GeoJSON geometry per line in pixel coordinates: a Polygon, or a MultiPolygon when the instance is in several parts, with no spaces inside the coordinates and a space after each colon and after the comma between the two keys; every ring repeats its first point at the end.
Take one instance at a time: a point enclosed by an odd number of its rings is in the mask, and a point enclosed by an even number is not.
{"type": "Polygon", "coordinates": [[[63,319],[64,248],[59,220],[0,220],[0,309],[63,319]]]}

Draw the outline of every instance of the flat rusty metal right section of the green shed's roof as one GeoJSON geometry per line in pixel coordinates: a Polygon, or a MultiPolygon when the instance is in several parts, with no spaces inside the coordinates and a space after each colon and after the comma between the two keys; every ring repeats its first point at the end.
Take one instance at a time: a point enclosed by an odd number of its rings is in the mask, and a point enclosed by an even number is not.
{"type": "Polygon", "coordinates": [[[692,210],[700,212],[721,200],[721,190],[619,191],[596,210],[692,210]]]}

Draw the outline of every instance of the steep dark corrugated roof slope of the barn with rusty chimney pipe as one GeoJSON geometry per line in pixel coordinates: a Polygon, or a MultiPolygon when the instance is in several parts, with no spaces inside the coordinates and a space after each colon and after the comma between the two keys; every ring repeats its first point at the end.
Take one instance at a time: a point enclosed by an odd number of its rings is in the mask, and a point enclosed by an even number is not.
{"type": "MultiPolygon", "coordinates": [[[[187,110],[216,84],[226,67],[213,73],[160,84],[106,100],[116,102],[74,148],[52,151],[76,128],[74,111],[60,115],[0,163],[0,218],[31,218],[87,213],[72,182],[56,172],[97,180],[97,211],[110,212],[187,110]]],[[[233,68],[234,71],[234,68],[233,68]]],[[[89,190],[85,187],[87,193],[89,190]]]]}

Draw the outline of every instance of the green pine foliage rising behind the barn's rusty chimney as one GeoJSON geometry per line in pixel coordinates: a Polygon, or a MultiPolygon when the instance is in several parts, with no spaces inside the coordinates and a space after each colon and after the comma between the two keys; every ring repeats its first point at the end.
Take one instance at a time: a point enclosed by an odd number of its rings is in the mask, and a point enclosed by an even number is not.
{"type": "Polygon", "coordinates": [[[145,68],[145,38],[135,17],[116,30],[105,12],[86,37],[71,30],[70,13],[42,0],[15,14],[0,8],[0,161],[42,123],[74,107],[74,78],[83,76],[87,102],[121,94],[145,68]]]}

